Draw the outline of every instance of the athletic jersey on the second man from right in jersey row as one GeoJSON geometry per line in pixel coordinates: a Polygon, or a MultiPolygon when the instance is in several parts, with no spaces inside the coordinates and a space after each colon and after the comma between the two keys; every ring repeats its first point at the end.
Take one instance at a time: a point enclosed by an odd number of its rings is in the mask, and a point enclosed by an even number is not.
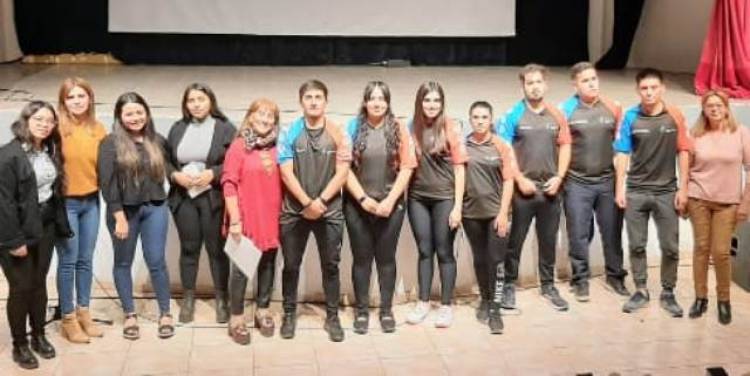
{"type": "Polygon", "coordinates": [[[580,184],[611,181],[615,176],[612,142],[622,116],[619,104],[600,98],[589,106],[574,95],[560,109],[573,141],[568,179],[580,184]]]}

